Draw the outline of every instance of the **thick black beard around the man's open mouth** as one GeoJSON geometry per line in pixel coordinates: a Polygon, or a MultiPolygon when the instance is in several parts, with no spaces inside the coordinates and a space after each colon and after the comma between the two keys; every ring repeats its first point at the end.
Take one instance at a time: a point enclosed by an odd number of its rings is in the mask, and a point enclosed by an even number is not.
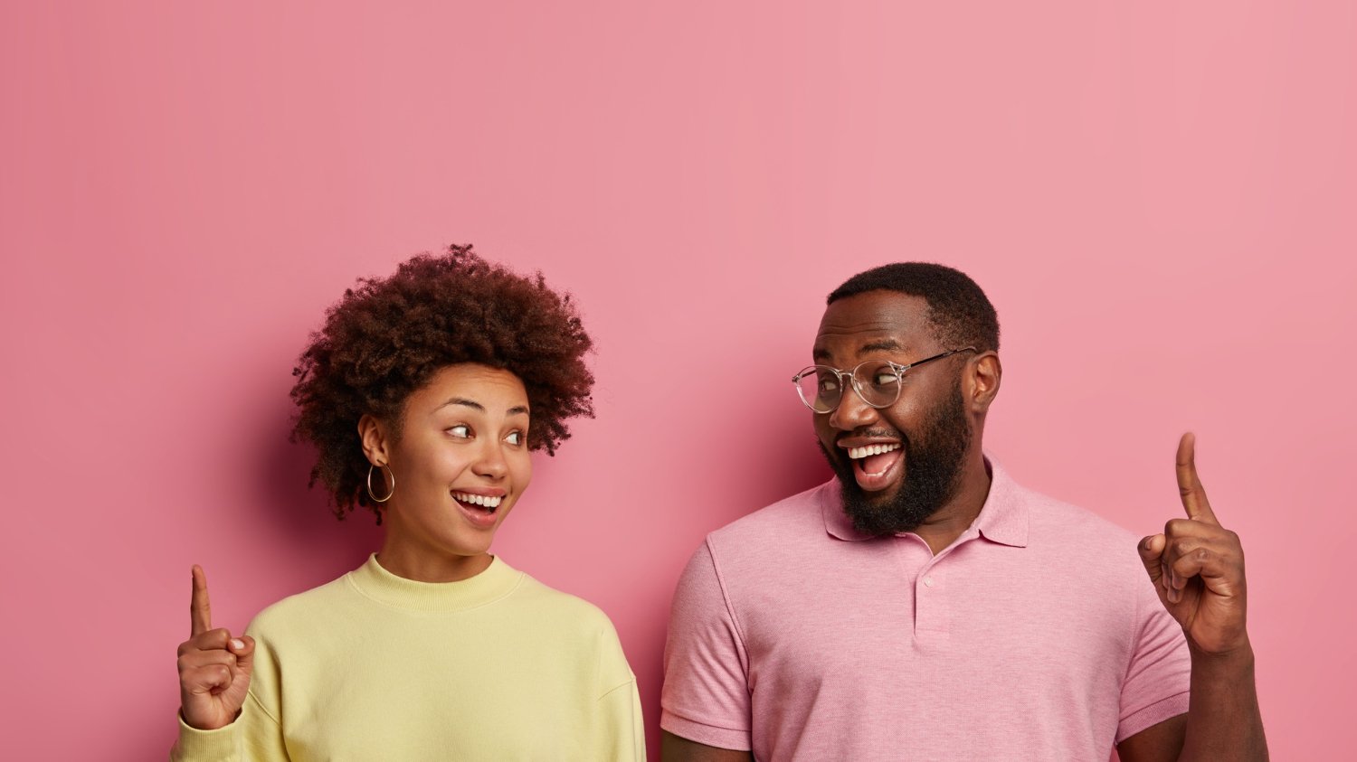
{"type": "Polygon", "coordinates": [[[962,462],[970,449],[970,426],[966,420],[966,403],[961,396],[961,380],[957,380],[947,400],[932,411],[913,437],[904,431],[900,434],[904,439],[905,481],[894,498],[885,500],[873,500],[858,485],[847,453],[830,457],[824,443],[820,445],[829,468],[843,484],[844,513],[852,519],[854,529],[863,534],[881,537],[913,532],[957,494],[962,462]]]}

